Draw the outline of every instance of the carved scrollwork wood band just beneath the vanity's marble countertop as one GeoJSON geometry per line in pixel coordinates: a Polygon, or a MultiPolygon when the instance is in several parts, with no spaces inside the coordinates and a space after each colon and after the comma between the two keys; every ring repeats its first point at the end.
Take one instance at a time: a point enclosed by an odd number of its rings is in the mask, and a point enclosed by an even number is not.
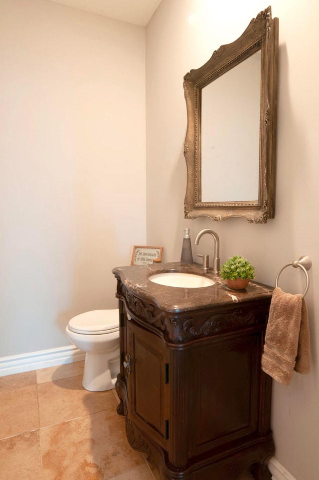
{"type": "Polygon", "coordinates": [[[185,343],[190,340],[212,336],[220,332],[232,331],[234,327],[248,327],[265,323],[268,319],[268,302],[260,304],[246,302],[234,309],[233,305],[207,309],[196,315],[192,311],[177,315],[164,315],[156,305],[145,302],[133,294],[118,278],[117,296],[125,301],[128,311],[138,323],[143,321],[161,333],[165,340],[173,343],[185,343]],[[219,310],[219,311],[218,311],[219,310]],[[212,313],[212,311],[214,313],[212,313]]]}

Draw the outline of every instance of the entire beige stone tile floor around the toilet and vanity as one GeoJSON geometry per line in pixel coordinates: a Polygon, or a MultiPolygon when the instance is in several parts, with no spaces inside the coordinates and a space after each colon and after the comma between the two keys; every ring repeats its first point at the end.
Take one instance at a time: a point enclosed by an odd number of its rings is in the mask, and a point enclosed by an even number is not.
{"type": "Polygon", "coordinates": [[[84,390],[83,367],[0,377],[0,480],[160,480],[127,441],[116,391],[84,390]]]}

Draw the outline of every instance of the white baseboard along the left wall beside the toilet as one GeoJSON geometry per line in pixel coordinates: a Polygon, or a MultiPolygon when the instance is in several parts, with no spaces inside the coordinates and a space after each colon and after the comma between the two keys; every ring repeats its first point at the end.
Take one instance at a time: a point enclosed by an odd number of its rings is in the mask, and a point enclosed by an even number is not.
{"type": "Polygon", "coordinates": [[[41,350],[29,354],[0,358],[0,376],[62,365],[85,359],[85,353],[74,345],[59,349],[41,350]]]}

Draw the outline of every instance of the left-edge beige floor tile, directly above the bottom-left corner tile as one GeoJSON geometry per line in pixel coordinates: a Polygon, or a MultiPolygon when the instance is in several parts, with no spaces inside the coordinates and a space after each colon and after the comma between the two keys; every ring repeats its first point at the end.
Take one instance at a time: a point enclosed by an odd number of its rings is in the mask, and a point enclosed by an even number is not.
{"type": "Polygon", "coordinates": [[[39,428],[37,386],[0,392],[0,438],[39,428]]]}

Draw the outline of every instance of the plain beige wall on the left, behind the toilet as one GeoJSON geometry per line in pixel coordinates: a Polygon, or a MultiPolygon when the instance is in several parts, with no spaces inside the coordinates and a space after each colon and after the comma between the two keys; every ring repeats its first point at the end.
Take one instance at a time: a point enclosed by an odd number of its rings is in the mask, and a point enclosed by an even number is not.
{"type": "Polygon", "coordinates": [[[0,0],[0,357],[116,308],[146,242],[145,28],[0,0]]]}

